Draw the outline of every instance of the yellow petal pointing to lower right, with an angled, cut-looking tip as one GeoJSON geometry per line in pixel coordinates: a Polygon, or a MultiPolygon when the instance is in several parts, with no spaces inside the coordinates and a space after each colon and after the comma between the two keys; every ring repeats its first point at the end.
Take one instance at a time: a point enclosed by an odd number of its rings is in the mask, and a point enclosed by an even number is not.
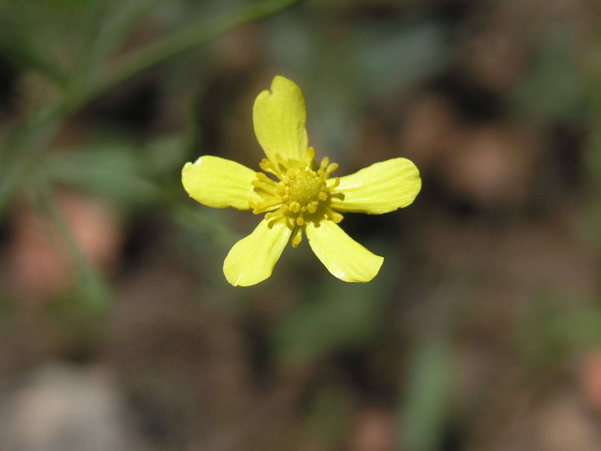
{"type": "Polygon", "coordinates": [[[317,258],[339,279],[368,282],[380,271],[384,259],[350,238],[334,221],[308,221],[305,233],[317,258]]]}

